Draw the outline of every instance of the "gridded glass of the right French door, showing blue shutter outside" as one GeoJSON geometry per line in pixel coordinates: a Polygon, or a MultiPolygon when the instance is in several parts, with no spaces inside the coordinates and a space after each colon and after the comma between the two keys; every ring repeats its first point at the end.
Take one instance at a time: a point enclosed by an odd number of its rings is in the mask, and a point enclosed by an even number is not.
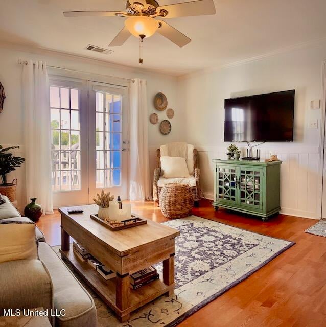
{"type": "Polygon", "coordinates": [[[95,92],[96,187],[121,186],[122,97],[95,92]]]}

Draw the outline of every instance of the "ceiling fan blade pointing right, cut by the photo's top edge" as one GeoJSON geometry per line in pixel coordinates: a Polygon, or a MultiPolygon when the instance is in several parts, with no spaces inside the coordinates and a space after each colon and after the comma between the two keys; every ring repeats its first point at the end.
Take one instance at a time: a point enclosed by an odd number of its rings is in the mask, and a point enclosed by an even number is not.
{"type": "Polygon", "coordinates": [[[160,9],[164,9],[168,12],[168,14],[162,18],[216,14],[216,9],[213,0],[197,0],[191,2],[183,2],[180,4],[160,6],[156,9],[156,12],[159,12],[160,9]]]}

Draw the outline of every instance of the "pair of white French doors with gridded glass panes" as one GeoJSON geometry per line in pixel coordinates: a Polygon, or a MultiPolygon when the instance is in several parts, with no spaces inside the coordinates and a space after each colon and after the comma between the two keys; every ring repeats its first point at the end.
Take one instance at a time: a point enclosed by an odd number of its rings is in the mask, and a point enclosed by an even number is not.
{"type": "Polygon", "coordinates": [[[50,80],[54,207],[128,197],[128,88],[50,80]]]}

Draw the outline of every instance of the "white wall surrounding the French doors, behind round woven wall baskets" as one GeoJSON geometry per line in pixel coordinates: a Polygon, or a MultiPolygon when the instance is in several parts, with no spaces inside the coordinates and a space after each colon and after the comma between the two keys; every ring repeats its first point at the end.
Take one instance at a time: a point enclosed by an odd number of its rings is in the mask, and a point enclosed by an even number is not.
{"type": "MultiPolygon", "coordinates": [[[[159,122],[166,119],[166,111],[160,112],[153,106],[153,99],[157,92],[164,92],[168,99],[169,108],[173,108],[175,116],[171,121],[172,131],[169,135],[159,132],[159,123],[148,124],[149,145],[162,144],[178,141],[183,134],[183,114],[177,107],[177,79],[168,75],[162,75],[141,69],[134,69],[104,63],[94,60],[86,60],[73,56],[65,56],[58,53],[50,53],[37,49],[17,48],[9,44],[0,44],[0,81],[6,92],[4,110],[0,114],[0,144],[20,145],[19,155],[24,156],[23,118],[21,106],[21,70],[18,59],[44,60],[49,66],[57,66],[77,71],[89,72],[120,78],[143,78],[147,80],[148,91],[148,115],[156,112],[159,122]]],[[[37,145],[36,145],[37,146],[37,145]]],[[[153,162],[151,160],[151,162],[153,162]]],[[[151,168],[153,171],[154,167],[151,168]]],[[[24,167],[18,168],[12,173],[9,180],[18,178],[17,199],[19,207],[24,208],[24,167]]]]}

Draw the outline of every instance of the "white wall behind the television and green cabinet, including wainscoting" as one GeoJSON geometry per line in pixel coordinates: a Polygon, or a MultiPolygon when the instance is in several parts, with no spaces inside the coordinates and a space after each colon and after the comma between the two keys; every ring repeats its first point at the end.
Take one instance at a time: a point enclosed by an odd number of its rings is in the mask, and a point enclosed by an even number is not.
{"type": "MultiPolygon", "coordinates": [[[[199,150],[205,197],[213,198],[212,159],[225,158],[229,144],[223,141],[224,99],[295,89],[294,142],[269,142],[258,148],[263,159],[275,153],[283,160],[282,212],[320,218],[318,156],[321,113],[320,110],[310,110],[310,101],[321,98],[322,61],[325,59],[326,44],[320,44],[179,78],[179,107],[187,112],[185,136],[199,150]],[[318,129],[308,128],[311,119],[319,120],[318,129]]],[[[246,149],[244,143],[238,146],[242,151],[246,149]]]]}

